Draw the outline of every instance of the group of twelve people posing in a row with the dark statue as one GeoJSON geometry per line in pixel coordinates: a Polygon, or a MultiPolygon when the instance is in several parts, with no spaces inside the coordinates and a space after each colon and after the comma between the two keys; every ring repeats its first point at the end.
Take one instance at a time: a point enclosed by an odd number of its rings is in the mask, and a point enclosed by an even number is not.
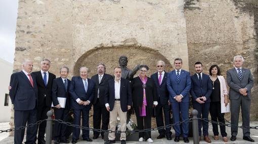
{"type": "MultiPolygon", "coordinates": [[[[251,88],[253,79],[249,69],[243,68],[243,57],[237,55],[233,59],[234,68],[227,71],[227,84],[230,87],[229,99],[231,104],[231,138],[235,141],[238,131],[239,109],[241,106],[243,126],[243,139],[252,141],[250,137],[249,117],[251,104],[251,88]]],[[[127,57],[119,58],[120,66],[114,68],[114,77],[105,73],[104,63],[97,65],[97,74],[91,79],[88,78],[88,68],[80,67],[80,76],[67,79],[69,68],[60,68],[60,78],[50,73],[50,60],[41,61],[41,70],[32,72],[33,63],[31,60],[24,60],[22,71],[12,74],[10,82],[10,97],[15,110],[15,127],[36,123],[37,120],[47,118],[47,111],[50,110],[53,102],[55,119],[68,120],[70,108],[73,110],[73,124],[89,127],[89,111],[93,105],[93,126],[95,129],[116,130],[117,116],[120,118],[120,140],[126,143],[126,121],[128,112],[134,110],[139,130],[151,128],[151,118],[155,109],[157,127],[171,124],[170,110],[172,110],[173,121],[182,123],[175,125],[175,142],[188,143],[189,133],[189,102],[192,96],[193,108],[198,111],[198,118],[208,119],[210,113],[212,121],[219,121],[225,124],[224,113],[221,108],[228,105],[228,91],[226,81],[221,76],[218,65],[209,68],[209,75],[203,74],[201,62],[194,64],[195,74],[182,69],[181,58],[174,60],[175,69],[169,73],[164,71],[165,62],[157,61],[157,73],[148,77],[149,67],[145,64],[138,65],[134,70],[126,67],[127,57]],[[133,78],[139,70],[139,76],[133,78]],[[31,73],[32,72],[32,73],[31,73]],[[163,120],[164,115],[164,120],[163,120]],[[165,123],[163,122],[165,121],[165,123]]],[[[203,132],[203,139],[211,142],[208,136],[208,122],[198,120],[199,140],[203,132]],[[201,132],[202,128],[202,132],[201,132]]],[[[46,143],[44,140],[46,122],[33,125],[27,128],[26,143],[46,143]],[[38,135],[36,133],[38,130],[38,135]]],[[[212,123],[214,140],[219,139],[218,124],[212,123]]],[[[220,125],[223,141],[228,141],[225,125],[220,125]]],[[[69,143],[65,137],[66,125],[55,123],[55,143],[69,143]]],[[[166,137],[171,140],[171,127],[164,127],[158,130],[158,139],[166,137]]],[[[93,139],[97,139],[103,131],[94,131],[93,139]]],[[[72,131],[72,143],[79,139],[80,129],[74,127],[72,131]]],[[[24,129],[15,130],[14,142],[22,143],[24,129]]],[[[86,141],[93,141],[89,137],[89,130],[82,129],[82,138],[86,141]]],[[[139,132],[139,141],[146,140],[153,142],[151,132],[139,132]]],[[[115,143],[115,132],[108,135],[105,144],[115,143]]]]}

